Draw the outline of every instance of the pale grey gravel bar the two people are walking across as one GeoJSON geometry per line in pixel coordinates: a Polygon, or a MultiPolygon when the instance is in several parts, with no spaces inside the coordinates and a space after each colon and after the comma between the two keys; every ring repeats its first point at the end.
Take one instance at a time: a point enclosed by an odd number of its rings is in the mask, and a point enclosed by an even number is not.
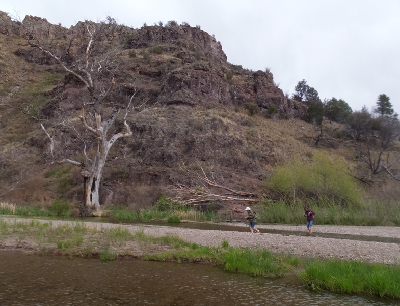
{"type": "MultiPolygon", "coordinates": [[[[14,222],[29,222],[30,219],[4,218],[14,222]]],[[[37,220],[37,219],[35,219],[37,220]]],[[[49,222],[49,220],[39,220],[49,222]]],[[[52,226],[73,224],[71,221],[51,221],[52,226]]],[[[385,242],[369,242],[348,239],[323,238],[313,236],[294,236],[281,234],[262,235],[250,232],[233,232],[220,230],[199,230],[155,225],[118,225],[110,223],[85,222],[87,226],[110,228],[123,226],[132,233],[143,229],[144,233],[154,237],[167,234],[177,235],[185,241],[195,242],[203,246],[221,246],[225,239],[232,247],[258,247],[273,252],[289,253],[302,257],[335,258],[365,262],[400,264],[400,244],[385,242]]],[[[238,225],[239,226],[239,225],[238,225]]],[[[242,226],[244,226],[242,224],[242,226]]],[[[259,228],[282,230],[304,230],[304,226],[259,225],[259,228]]],[[[360,226],[315,226],[314,231],[327,233],[358,234],[380,237],[399,237],[400,228],[396,227],[360,227],[360,226]]]]}

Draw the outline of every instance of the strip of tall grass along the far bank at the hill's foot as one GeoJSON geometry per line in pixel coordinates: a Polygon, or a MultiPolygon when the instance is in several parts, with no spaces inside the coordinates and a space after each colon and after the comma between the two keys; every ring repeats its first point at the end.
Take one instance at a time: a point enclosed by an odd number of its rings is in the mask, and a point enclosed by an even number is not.
{"type": "MultiPolygon", "coordinates": [[[[359,225],[359,226],[400,226],[400,206],[396,203],[366,202],[362,205],[338,205],[333,200],[302,201],[296,204],[281,201],[260,201],[254,210],[257,211],[259,223],[303,224],[305,223],[304,205],[315,212],[315,224],[319,225],[359,225]]],[[[76,209],[75,209],[76,210],[76,209]]],[[[179,222],[180,220],[219,221],[218,210],[210,206],[205,211],[193,207],[180,206],[161,198],[154,206],[146,209],[131,210],[124,206],[105,208],[108,216],[120,220],[143,221],[160,220],[179,222]]],[[[72,207],[63,201],[55,201],[48,208],[35,206],[16,206],[0,203],[0,215],[37,216],[46,218],[74,218],[72,207]]],[[[77,217],[77,216],[75,216],[77,217]]]]}

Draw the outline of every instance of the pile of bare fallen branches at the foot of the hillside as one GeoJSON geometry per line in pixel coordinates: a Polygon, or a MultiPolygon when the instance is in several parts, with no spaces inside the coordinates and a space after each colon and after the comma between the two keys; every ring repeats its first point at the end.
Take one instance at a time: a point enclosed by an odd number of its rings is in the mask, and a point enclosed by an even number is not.
{"type": "Polygon", "coordinates": [[[176,183],[175,192],[177,196],[173,198],[175,202],[178,202],[181,205],[204,205],[216,201],[225,201],[231,204],[238,204],[238,203],[248,203],[247,205],[251,205],[257,201],[259,201],[259,195],[245,192],[245,191],[238,191],[226,186],[219,185],[214,177],[212,179],[208,178],[205,174],[205,171],[200,163],[197,163],[201,170],[201,174],[197,173],[196,171],[188,169],[183,163],[179,165],[180,169],[184,171],[186,174],[192,177],[197,177],[203,186],[198,186],[195,189],[183,185],[181,183],[176,183]],[[223,192],[213,192],[213,190],[223,190],[223,192]]]}

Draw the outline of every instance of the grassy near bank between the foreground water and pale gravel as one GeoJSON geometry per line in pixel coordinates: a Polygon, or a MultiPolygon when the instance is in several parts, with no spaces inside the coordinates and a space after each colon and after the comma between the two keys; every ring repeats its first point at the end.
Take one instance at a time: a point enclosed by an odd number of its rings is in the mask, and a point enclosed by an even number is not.
{"type": "Polygon", "coordinates": [[[140,257],[144,260],[205,262],[226,271],[252,276],[279,277],[297,271],[314,290],[365,293],[400,298],[400,266],[361,262],[301,259],[273,254],[265,249],[232,248],[224,240],[220,247],[204,247],[177,236],[151,237],[143,229],[130,232],[122,226],[105,228],[72,222],[54,226],[51,221],[11,221],[0,218],[0,243],[23,241],[23,248],[39,254],[79,257],[140,257]],[[300,271],[300,272],[299,272],[300,271]]]}

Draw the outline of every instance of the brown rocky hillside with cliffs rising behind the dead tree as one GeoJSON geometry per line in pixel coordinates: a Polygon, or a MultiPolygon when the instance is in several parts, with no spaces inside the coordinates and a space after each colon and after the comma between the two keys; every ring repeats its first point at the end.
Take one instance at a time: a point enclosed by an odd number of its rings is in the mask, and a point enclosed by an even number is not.
{"type": "MultiPolygon", "coordinates": [[[[133,135],[112,147],[102,204],[141,207],[173,194],[176,183],[201,185],[181,171],[182,163],[193,170],[202,165],[221,185],[261,192],[276,164],[299,154],[307,159],[316,150],[302,137],[313,133],[301,120],[306,107],[285,97],[271,72],[227,62],[221,43],[200,28],[91,24],[101,33],[96,47],[120,50],[114,106],[126,106],[134,88],[137,99],[152,106],[129,117],[133,135]]],[[[84,157],[85,143],[75,132],[87,90],[28,44],[27,25],[69,64],[67,42],[87,30],[83,22],[66,29],[38,17],[26,16],[21,23],[0,13],[0,200],[46,205],[61,197],[77,203],[83,197],[78,169],[55,161],[84,157]],[[40,124],[54,131],[54,158],[40,124]]],[[[122,123],[117,120],[114,131],[122,123]]],[[[348,152],[345,146],[330,149],[348,152]]]]}

